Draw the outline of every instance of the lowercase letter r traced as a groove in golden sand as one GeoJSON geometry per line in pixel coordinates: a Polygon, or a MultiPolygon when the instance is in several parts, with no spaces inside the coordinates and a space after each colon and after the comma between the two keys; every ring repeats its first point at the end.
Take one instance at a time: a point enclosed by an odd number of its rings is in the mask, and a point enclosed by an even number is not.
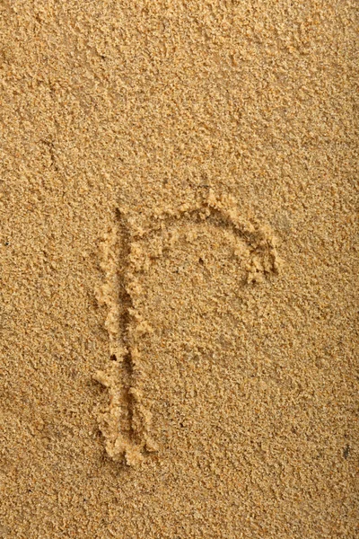
{"type": "MultiPolygon", "coordinates": [[[[195,207],[162,211],[142,228],[136,226],[134,218],[118,210],[118,224],[101,243],[105,283],[97,298],[100,304],[108,306],[105,325],[112,361],[95,378],[109,391],[109,404],[99,411],[99,425],[107,453],[115,461],[124,459],[128,465],[136,465],[146,453],[157,450],[151,438],[151,412],[144,408],[137,384],[141,375],[138,342],[152,331],[138,308],[141,296],[138,277],[148,263],[140,242],[149,243],[173,225],[203,222],[223,227],[247,244],[248,284],[278,273],[276,238],[270,228],[242,219],[232,199],[217,199],[213,191],[195,207]]],[[[170,249],[171,245],[164,243],[164,248],[170,249]]]]}

